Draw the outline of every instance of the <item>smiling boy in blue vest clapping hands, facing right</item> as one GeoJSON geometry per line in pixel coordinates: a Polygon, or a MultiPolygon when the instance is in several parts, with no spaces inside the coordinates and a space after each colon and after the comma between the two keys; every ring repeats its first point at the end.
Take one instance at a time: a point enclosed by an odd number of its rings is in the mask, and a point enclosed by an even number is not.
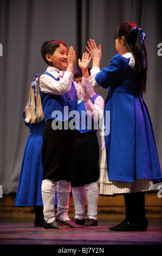
{"type": "Polygon", "coordinates": [[[89,55],[83,53],[79,66],[83,73],[82,85],[73,82],[75,51],[61,40],[43,43],[42,57],[49,65],[40,76],[40,96],[46,124],[42,144],[42,199],[44,228],[80,228],[68,217],[71,181],[76,161],[76,130],[69,129],[74,121],[72,111],[77,111],[76,99],[93,97],[88,78],[89,55]],[[65,69],[66,71],[62,71],[65,69]],[[57,182],[57,188],[56,188],[57,182]],[[54,200],[57,191],[57,220],[54,200]]]}

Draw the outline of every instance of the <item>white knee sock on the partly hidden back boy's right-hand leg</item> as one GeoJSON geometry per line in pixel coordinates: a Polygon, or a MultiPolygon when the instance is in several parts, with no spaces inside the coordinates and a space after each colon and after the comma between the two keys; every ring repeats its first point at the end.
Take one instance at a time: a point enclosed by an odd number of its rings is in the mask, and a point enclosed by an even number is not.
{"type": "Polygon", "coordinates": [[[88,218],[93,218],[97,220],[98,214],[98,197],[99,197],[99,188],[97,182],[93,182],[85,185],[86,195],[87,195],[87,216],[88,218]]]}

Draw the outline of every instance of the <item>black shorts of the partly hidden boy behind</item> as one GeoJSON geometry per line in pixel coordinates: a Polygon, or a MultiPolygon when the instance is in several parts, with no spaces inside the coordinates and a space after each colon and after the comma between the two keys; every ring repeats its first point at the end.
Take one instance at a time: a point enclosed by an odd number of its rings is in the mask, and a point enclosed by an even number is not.
{"type": "Polygon", "coordinates": [[[77,131],[76,169],[72,187],[80,187],[99,179],[99,143],[96,132],[77,131]]]}

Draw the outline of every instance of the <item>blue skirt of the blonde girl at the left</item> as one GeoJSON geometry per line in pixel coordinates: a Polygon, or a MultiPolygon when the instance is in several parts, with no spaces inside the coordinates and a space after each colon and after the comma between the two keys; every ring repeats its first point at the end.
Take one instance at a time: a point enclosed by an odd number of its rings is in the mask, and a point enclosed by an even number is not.
{"type": "MultiPolygon", "coordinates": [[[[42,136],[30,134],[23,154],[15,200],[16,206],[43,205],[41,194],[43,180],[41,147],[42,136]]],[[[57,205],[57,196],[55,197],[55,205],[57,205]]]]}

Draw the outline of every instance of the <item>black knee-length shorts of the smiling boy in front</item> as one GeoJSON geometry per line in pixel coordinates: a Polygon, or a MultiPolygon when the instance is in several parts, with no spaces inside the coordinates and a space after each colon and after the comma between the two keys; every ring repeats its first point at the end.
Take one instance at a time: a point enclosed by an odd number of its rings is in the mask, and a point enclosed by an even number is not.
{"type": "Polygon", "coordinates": [[[76,164],[76,130],[53,130],[52,121],[47,120],[43,130],[43,180],[72,181],[76,164]]]}

